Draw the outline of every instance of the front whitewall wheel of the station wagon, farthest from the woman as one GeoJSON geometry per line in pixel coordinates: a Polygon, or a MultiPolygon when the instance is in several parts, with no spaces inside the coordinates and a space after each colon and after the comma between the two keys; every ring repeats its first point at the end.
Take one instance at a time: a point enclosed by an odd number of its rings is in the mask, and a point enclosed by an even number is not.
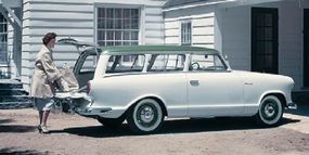
{"type": "Polygon", "coordinates": [[[283,115],[282,103],[275,95],[267,95],[261,100],[257,122],[263,127],[276,126],[283,115]]]}

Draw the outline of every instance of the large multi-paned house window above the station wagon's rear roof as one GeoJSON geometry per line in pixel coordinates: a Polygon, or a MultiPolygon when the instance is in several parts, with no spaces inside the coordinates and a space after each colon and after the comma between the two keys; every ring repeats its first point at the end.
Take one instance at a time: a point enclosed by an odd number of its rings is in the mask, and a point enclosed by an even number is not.
{"type": "MultiPolygon", "coordinates": [[[[98,8],[98,44],[139,44],[139,9],[98,8]]],[[[131,61],[129,55],[123,57],[123,62],[131,61]]]]}

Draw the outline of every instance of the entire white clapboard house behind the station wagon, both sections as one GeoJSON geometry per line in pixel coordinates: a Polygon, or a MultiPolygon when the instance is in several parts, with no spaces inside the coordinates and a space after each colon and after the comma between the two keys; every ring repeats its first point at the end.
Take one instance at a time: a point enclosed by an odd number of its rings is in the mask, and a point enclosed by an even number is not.
{"type": "MultiPolygon", "coordinates": [[[[233,69],[287,75],[295,90],[309,87],[308,0],[0,0],[0,76],[11,73],[26,90],[49,31],[100,46],[215,48],[233,69]]],[[[78,56],[72,47],[54,52],[59,66],[78,56]]]]}

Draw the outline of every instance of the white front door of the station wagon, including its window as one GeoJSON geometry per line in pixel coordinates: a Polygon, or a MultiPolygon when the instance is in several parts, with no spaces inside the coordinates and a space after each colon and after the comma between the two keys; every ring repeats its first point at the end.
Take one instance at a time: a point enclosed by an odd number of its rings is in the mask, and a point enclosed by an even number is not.
{"type": "Polygon", "coordinates": [[[188,82],[190,117],[236,116],[244,111],[241,77],[219,55],[191,55],[188,82]]]}

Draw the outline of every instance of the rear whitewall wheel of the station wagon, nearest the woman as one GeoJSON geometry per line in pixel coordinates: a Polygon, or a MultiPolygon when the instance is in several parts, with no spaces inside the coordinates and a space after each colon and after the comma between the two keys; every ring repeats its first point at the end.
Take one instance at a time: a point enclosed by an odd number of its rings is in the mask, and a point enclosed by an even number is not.
{"type": "Polygon", "coordinates": [[[162,127],[163,120],[163,109],[159,103],[152,99],[142,100],[130,108],[127,118],[129,127],[138,133],[157,131],[162,127]]]}

